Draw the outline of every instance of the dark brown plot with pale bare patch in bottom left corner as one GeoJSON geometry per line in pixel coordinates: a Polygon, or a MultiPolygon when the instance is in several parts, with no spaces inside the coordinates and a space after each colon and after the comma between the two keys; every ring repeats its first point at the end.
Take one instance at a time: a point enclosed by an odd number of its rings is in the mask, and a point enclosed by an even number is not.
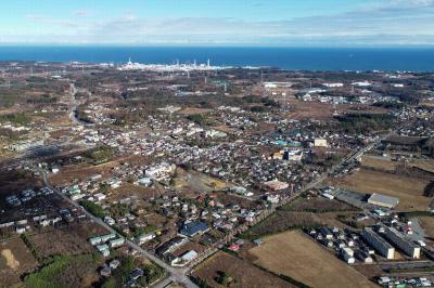
{"type": "Polygon", "coordinates": [[[20,283],[21,275],[35,269],[36,264],[21,238],[0,243],[0,287],[20,283]]]}

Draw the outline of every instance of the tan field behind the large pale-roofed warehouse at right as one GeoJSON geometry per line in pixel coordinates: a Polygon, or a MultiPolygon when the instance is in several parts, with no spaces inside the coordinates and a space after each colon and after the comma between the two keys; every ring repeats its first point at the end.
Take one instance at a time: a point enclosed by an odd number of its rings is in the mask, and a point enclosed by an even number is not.
{"type": "Polygon", "coordinates": [[[399,197],[398,210],[427,210],[432,200],[423,196],[429,181],[363,169],[344,179],[334,179],[331,184],[361,193],[399,197]]]}

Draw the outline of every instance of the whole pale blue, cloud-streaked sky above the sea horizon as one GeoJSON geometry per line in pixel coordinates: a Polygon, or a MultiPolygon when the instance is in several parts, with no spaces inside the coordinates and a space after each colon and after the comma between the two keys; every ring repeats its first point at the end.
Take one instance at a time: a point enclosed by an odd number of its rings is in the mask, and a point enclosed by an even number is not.
{"type": "Polygon", "coordinates": [[[14,0],[0,43],[434,45],[434,0],[14,0]]]}

